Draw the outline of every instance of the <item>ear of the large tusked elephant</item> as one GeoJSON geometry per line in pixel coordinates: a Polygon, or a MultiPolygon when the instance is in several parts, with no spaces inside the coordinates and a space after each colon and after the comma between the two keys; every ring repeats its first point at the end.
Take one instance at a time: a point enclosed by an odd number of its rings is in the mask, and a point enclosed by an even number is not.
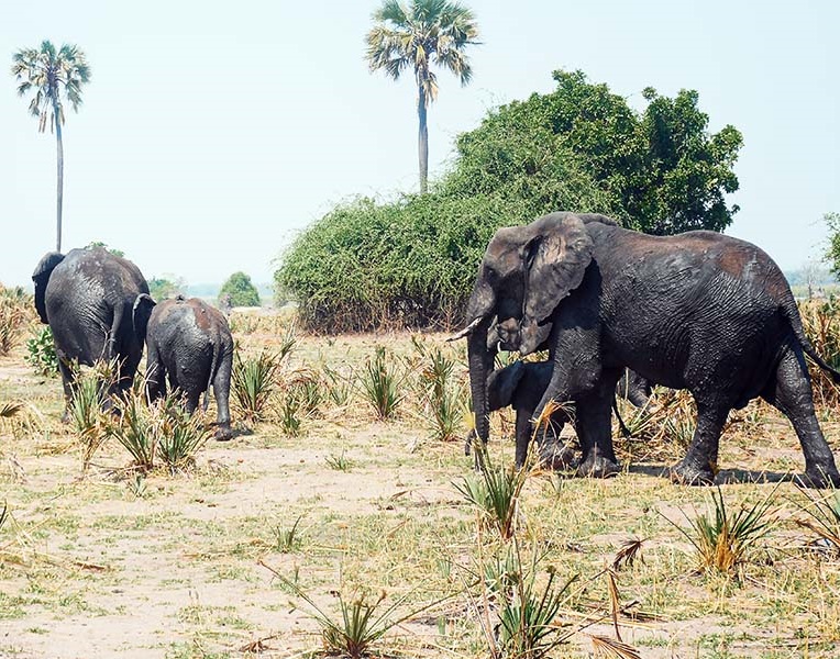
{"type": "MultiPolygon", "coordinates": [[[[526,246],[523,322],[540,324],[575,290],[593,259],[593,239],[576,215],[548,216],[526,246]]],[[[540,222],[540,221],[538,221],[540,222]]]]}

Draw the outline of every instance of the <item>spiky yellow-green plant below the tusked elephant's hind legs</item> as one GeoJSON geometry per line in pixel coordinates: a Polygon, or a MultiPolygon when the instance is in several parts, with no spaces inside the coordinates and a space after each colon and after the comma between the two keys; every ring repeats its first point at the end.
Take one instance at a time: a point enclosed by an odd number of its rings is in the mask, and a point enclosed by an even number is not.
{"type": "MultiPolygon", "coordinates": [[[[775,489],[751,506],[737,513],[727,510],[720,488],[711,492],[711,514],[689,518],[689,528],[676,528],[694,546],[699,570],[733,574],[747,561],[749,552],[772,530],[775,521],[769,516],[775,489]]],[[[673,522],[672,522],[673,524],[673,522]]]]}

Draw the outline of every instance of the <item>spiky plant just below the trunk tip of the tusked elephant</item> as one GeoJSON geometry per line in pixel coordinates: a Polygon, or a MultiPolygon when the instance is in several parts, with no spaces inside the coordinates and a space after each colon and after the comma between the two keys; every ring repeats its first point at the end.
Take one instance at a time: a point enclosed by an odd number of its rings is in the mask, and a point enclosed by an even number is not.
{"type": "Polygon", "coordinates": [[[482,451],[482,470],[454,483],[455,489],[478,509],[485,524],[495,528],[504,540],[509,540],[516,534],[519,499],[528,472],[513,467],[494,466],[480,443],[475,450],[482,451]]]}

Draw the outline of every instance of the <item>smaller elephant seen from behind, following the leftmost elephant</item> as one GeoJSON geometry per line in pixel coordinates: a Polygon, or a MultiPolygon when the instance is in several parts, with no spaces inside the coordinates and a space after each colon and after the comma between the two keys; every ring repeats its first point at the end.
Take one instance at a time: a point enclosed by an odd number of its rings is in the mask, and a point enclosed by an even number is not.
{"type": "Polygon", "coordinates": [[[166,395],[168,379],[169,387],[186,396],[187,411],[192,413],[201,393],[207,410],[212,384],[218,409],[215,438],[230,439],[233,337],[224,315],[198,298],[178,295],[155,304],[142,294],[134,302],[134,327],[146,342],[148,399],[166,395]]]}

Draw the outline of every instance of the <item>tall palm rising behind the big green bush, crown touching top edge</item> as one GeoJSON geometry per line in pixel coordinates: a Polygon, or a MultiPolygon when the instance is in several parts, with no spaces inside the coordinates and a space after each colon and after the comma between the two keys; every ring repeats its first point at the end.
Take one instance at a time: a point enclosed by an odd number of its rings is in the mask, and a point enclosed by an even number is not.
{"type": "Polygon", "coordinates": [[[385,69],[399,79],[412,68],[417,80],[417,115],[420,122],[418,153],[420,192],[429,180],[429,132],[425,115],[429,103],[438,98],[438,77],[431,70],[436,64],[447,68],[466,86],[473,77],[464,48],[477,44],[478,25],[473,12],[447,0],[385,0],[374,12],[376,25],[367,33],[367,63],[372,71],[385,69]]]}

